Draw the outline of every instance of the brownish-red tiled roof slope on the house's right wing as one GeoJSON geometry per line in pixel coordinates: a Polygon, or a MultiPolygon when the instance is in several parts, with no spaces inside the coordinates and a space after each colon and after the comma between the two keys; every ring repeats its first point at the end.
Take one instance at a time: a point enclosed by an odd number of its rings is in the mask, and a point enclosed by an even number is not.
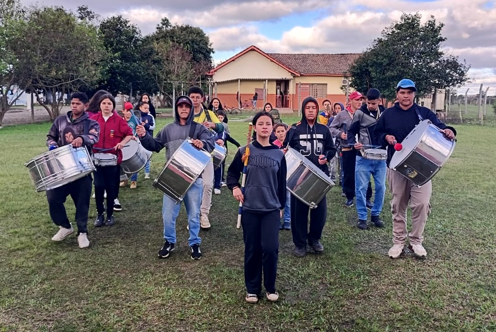
{"type": "Polygon", "coordinates": [[[348,72],[358,53],[344,54],[281,54],[267,53],[269,57],[299,72],[301,75],[342,75],[348,72]]]}

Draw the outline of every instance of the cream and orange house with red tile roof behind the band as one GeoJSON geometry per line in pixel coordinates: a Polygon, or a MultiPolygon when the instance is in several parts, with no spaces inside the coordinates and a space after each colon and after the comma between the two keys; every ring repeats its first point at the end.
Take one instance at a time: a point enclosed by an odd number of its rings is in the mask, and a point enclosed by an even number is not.
{"type": "Polygon", "coordinates": [[[251,108],[256,92],[257,108],[269,102],[283,112],[298,110],[308,96],[320,104],[324,99],[344,103],[346,73],[359,56],[265,53],[250,46],[209,71],[210,95],[227,106],[251,108]]]}

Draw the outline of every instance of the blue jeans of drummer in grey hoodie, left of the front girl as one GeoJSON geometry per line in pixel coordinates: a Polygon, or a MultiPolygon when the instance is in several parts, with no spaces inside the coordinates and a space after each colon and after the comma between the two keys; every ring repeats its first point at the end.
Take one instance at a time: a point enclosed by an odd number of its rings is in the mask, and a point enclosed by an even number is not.
{"type": "MultiPolygon", "coordinates": [[[[200,244],[201,238],[198,236],[200,232],[200,203],[203,194],[202,180],[196,181],[189,187],[183,199],[185,202],[187,223],[189,226],[188,244],[191,247],[194,244],[200,244]]],[[[164,219],[164,239],[170,243],[176,243],[176,218],[181,210],[181,204],[164,195],[164,203],[162,205],[162,218],[164,219]]]]}

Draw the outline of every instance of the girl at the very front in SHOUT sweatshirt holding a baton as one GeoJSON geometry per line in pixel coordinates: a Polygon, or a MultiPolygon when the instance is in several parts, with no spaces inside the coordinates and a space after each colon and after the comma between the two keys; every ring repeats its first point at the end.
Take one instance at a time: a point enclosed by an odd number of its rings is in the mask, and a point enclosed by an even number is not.
{"type": "Polygon", "coordinates": [[[286,204],[286,159],[284,152],[269,142],[274,119],[265,112],[253,118],[256,140],[249,144],[244,191],[240,176],[244,172],[243,156],[247,147],[236,152],[227,173],[227,186],[233,197],[243,203],[241,223],[245,241],[246,301],[258,302],[262,287],[262,270],[266,297],[277,301],[275,288],[279,256],[279,221],[286,204]]]}

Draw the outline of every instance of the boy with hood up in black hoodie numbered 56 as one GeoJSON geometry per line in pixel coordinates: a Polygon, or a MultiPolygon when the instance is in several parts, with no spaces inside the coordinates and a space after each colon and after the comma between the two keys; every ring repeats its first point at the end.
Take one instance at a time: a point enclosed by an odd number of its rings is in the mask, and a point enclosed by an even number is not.
{"type": "MultiPolygon", "coordinates": [[[[284,147],[290,146],[306,156],[315,166],[329,176],[326,165],[336,154],[336,147],[326,126],[317,123],[318,102],[307,97],[302,103],[302,121],[292,125],[286,134],[284,147]]],[[[324,197],[317,207],[310,210],[310,232],[308,232],[309,206],[291,195],[291,232],[295,244],[295,255],[304,257],[307,241],[317,252],[324,251],[320,237],[327,217],[327,200],[324,197]],[[307,233],[308,232],[308,233],[307,233]]]]}

